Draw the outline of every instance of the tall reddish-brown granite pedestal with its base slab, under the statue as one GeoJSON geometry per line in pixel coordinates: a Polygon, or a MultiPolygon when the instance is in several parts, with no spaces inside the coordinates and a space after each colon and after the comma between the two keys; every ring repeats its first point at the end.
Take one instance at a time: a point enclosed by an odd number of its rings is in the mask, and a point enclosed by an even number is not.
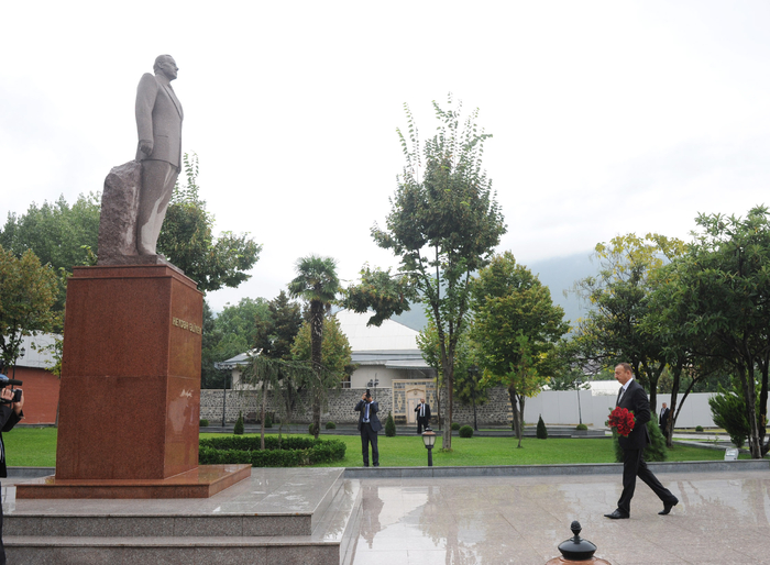
{"type": "Polygon", "coordinates": [[[56,475],[19,498],[210,496],[201,481],[248,476],[198,467],[202,308],[196,284],[167,265],[74,269],[56,475]]]}

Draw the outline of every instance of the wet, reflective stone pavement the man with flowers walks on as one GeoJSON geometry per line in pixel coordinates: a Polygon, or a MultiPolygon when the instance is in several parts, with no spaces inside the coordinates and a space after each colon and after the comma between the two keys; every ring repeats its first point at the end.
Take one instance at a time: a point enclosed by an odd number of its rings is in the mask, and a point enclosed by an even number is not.
{"type": "Polygon", "coordinates": [[[620,475],[361,479],[353,563],[543,565],[580,521],[613,565],[770,564],[767,472],[660,474],[671,514],[637,486],[630,520],[607,520],[620,475]]]}

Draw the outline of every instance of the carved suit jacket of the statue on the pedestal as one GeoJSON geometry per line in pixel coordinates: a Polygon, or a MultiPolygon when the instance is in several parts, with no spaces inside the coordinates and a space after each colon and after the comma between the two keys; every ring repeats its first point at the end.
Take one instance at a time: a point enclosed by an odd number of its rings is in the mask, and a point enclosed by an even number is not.
{"type": "Polygon", "coordinates": [[[153,151],[144,155],[136,149],[136,160],[165,160],[180,168],[183,119],[174,89],[144,74],[136,87],[136,129],[140,140],[153,141],[153,151]]]}

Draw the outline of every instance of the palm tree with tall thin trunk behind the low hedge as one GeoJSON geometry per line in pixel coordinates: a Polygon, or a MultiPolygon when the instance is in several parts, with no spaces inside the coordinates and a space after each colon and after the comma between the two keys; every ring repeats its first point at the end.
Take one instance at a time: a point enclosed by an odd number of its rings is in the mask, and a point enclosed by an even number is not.
{"type": "Polygon", "coordinates": [[[321,343],[323,341],[323,313],[331,309],[340,289],[337,277],[337,262],[331,257],[309,255],[300,257],[295,264],[297,276],[288,284],[292,298],[301,298],[310,302],[310,363],[316,376],[312,390],[314,435],[318,437],[321,429],[321,396],[323,378],[321,377],[321,343]]]}

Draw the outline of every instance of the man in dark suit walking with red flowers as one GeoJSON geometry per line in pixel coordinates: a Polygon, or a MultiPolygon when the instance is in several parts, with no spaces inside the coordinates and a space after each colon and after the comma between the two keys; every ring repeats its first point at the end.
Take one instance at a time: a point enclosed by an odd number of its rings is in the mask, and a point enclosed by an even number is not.
{"type": "Polygon", "coordinates": [[[623,494],[617,501],[617,509],[604,514],[613,520],[628,518],[631,513],[631,498],[636,488],[637,476],[652,489],[663,502],[663,510],[659,514],[668,514],[671,508],[676,506],[679,499],[663,487],[645,463],[645,447],[650,443],[647,431],[647,422],[650,421],[650,401],[647,392],[635,379],[631,366],[620,363],[615,367],[615,378],[623,387],[618,392],[616,406],[634,412],[636,423],[628,437],[618,439],[623,448],[623,494]]]}

